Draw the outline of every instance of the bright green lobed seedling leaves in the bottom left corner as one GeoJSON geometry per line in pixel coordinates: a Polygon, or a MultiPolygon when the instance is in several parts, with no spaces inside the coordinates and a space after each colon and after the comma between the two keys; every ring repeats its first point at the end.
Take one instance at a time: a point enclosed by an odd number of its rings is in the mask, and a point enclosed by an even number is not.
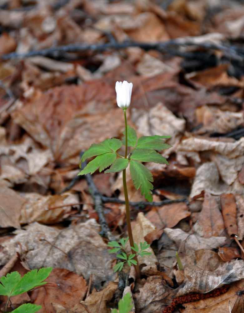
{"type": "MultiPolygon", "coordinates": [[[[7,296],[7,303],[4,309],[4,313],[7,312],[8,302],[11,296],[20,295],[26,291],[31,290],[34,287],[46,284],[45,280],[51,273],[52,267],[34,269],[26,273],[22,278],[18,272],[12,272],[0,279],[0,295],[7,296]]],[[[13,310],[12,313],[35,313],[41,309],[41,305],[35,305],[26,303],[20,305],[17,309],[13,310]]]]}

